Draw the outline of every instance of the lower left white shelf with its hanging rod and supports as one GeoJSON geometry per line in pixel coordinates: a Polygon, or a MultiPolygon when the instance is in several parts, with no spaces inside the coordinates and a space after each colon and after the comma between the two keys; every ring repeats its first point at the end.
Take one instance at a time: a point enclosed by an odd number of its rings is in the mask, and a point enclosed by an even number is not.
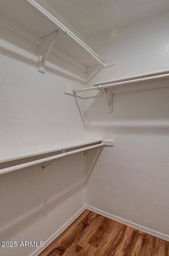
{"type": "MultiPolygon", "coordinates": [[[[42,167],[42,169],[44,170],[46,167],[48,167],[53,161],[55,161],[58,158],[67,157],[68,155],[73,155],[73,154],[84,152],[84,151],[87,151],[88,153],[94,148],[98,148],[102,146],[113,146],[113,145],[114,145],[114,140],[103,140],[102,138],[97,138],[97,139],[83,138],[83,139],[67,140],[67,141],[62,141],[58,143],[41,144],[41,145],[30,146],[30,147],[1,150],[0,163],[6,163],[9,161],[25,159],[25,158],[27,159],[32,156],[44,155],[52,152],[54,153],[54,152],[62,151],[62,153],[59,153],[59,154],[55,153],[53,156],[47,156],[47,157],[40,158],[38,160],[33,160],[33,161],[29,161],[28,159],[23,164],[17,164],[14,166],[2,168],[0,169],[0,175],[50,161],[50,163],[42,167]]],[[[84,156],[85,155],[86,153],[84,154],[84,156]]]]}

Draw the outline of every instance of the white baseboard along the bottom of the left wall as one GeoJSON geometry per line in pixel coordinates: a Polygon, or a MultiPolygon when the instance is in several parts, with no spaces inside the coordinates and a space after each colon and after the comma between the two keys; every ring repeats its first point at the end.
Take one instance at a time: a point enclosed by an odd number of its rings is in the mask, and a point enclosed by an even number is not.
{"type": "Polygon", "coordinates": [[[79,215],[82,214],[86,210],[86,205],[83,206],[70,220],[67,221],[66,224],[64,224],[53,236],[51,236],[45,243],[43,247],[38,248],[34,253],[32,253],[30,256],[38,256],[41,252],[43,252],[69,225],[72,224],[74,220],[79,217],[79,215]]]}

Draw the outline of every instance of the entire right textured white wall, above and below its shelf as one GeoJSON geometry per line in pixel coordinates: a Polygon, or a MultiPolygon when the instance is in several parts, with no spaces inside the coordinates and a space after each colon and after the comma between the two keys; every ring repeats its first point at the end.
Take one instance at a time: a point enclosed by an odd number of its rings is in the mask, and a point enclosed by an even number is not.
{"type": "MultiPolygon", "coordinates": [[[[90,38],[87,44],[116,66],[94,82],[169,68],[169,11],[90,38]]],[[[88,77],[92,76],[91,73],[88,77]]],[[[157,82],[156,82],[157,83],[157,82]]],[[[168,83],[159,82],[159,83],[168,83]]],[[[114,147],[87,155],[87,204],[169,235],[169,88],[114,94],[87,101],[88,134],[114,139],[114,147]]]]}

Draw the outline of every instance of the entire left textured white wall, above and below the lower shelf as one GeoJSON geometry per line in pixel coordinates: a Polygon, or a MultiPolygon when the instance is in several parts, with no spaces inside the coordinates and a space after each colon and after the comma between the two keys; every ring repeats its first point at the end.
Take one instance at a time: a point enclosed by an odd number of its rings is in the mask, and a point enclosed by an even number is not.
{"type": "MultiPolygon", "coordinates": [[[[64,95],[64,84],[84,86],[85,72],[49,54],[40,74],[37,45],[0,29],[0,149],[84,136],[85,102],[64,95]]],[[[83,153],[58,159],[44,172],[42,166],[1,175],[1,241],[45,242],[85,205],[83,153]]],[[[35,249],[1,248],[0,254],[27,256],[35,249]]]]}

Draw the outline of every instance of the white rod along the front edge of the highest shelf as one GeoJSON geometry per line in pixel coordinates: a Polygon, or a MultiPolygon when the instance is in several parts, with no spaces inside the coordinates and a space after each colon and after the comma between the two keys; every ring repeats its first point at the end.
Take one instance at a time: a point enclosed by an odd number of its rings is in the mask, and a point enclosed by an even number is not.
{"type": "Polygon", "coordinates": [[[76,35],[74,35],[71,31],[68,30],[59,20],[57,20],[53,15],[51,15],[48,11],[46,11],[42,6],[40,6],[34,0],[24,0],[29,3],[33,8],[39,11],[43,16],[45,16],[48,20],[50,20],[54,25],[58,27],[58,29],[64,34],[71,37],[74,41],[76,41],[83,49],[85,49],[93,58],[96,59],[98,63],[102,66],[105,65],[105,61],[98,56],[90,47],[88,47],[82,40],[80,40],[76,35]]]}

